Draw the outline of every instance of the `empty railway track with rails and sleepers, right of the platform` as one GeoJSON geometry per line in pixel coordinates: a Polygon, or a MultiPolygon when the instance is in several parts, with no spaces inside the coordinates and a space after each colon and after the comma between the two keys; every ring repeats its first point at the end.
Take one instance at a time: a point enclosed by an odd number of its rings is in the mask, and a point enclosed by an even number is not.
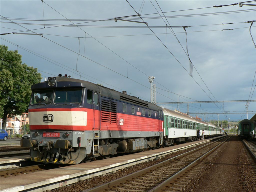
{"type": "Polygon", "coordinates": [[[215,150],[229,138],[222,138],[86,192],[181,191],[200,173],[201,167],[216,155],[215,150]]]}

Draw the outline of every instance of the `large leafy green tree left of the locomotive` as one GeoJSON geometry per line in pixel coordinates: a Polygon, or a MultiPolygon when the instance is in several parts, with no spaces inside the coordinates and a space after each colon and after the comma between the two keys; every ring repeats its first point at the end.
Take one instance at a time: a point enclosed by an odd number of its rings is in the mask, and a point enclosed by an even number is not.
{"type": "Polygon", "coordinates": [[[6,126],[6,118],[24,113],[31,96],[31,85],[39,83],[41,74],[37,68],[22,64],[18,51],[8,51],[0,45],[0,118],[6,126]]]}

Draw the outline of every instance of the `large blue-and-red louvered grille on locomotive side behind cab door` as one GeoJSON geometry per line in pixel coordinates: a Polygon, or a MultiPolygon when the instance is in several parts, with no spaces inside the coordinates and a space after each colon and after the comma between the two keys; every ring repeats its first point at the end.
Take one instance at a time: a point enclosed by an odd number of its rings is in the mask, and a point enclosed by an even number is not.
{"type": "Polygon", "coordinates": [[[108,123],[116,123],[116,107],[117,103],[107,100],[101,100],[101,121],[108,123]]]}

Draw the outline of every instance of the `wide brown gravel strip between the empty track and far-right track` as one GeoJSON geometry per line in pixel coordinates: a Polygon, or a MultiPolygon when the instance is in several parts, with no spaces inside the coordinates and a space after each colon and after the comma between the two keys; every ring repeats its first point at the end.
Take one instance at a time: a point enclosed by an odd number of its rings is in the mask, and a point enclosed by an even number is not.
{"type": "Polygon", "coordinates": [[[248,161],[247,153],[240,138],[232,136],[183,191],[255,192],[256,167],[254,162],[248,161]]]}

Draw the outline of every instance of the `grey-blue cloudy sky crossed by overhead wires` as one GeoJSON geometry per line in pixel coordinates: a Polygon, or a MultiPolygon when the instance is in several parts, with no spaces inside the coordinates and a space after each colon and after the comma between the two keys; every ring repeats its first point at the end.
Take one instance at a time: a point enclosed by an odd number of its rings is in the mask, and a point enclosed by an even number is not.
{"type": "MultiPolygon", "coordinates": [[[[0,33],[23,34],[1,35],[0,43],[18,49],[42,80],[68,74],[150,101],[154,76],[156,102],[256,100],[256,22],[252,37],[244,23],[256,20],[256,7],[234,3],[1,0],[0,33]]],[[[245,104],[191,103],[189,113],[240,120],[245,104]]],[[[159,105],[187,112],[186,103],[159,105]]],[[[250,102],[248,118],[255,112],[250,102]]]]}

